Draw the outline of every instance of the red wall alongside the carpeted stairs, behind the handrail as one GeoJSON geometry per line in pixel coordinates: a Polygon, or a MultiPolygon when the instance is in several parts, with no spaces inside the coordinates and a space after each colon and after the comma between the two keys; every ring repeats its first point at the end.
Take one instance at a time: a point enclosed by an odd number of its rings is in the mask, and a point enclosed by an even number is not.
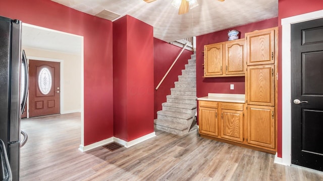
{"type": "MultiPolygon", "coordinates": [[[[157,38],[153,39],[153,46],[154,88],[156,88],[183,48],[157,38]]],[[[192,51],[184,50],[163,83],[157,90],[154,89],[154,119],[157,118],[157,111],[162,109],[161,104],[166,102],[166,96],[171,95],[171,88],[175,87],[174,82],[178,81],[178,75],[182,75],[182,69],[185,69],[191,54],[193,54],[192,51]]]]}

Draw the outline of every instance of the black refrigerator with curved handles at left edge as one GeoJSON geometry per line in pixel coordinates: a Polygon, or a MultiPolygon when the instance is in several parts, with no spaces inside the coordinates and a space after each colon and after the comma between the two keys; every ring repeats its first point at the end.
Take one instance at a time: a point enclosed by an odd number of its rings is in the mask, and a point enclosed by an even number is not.
{"type": "MultiPolygon", "coordinates": [[[[21,51],[21,24],[19,20],[0,17],[0,139],[8,156],[0,157],[0,179],[3,180],[19,180],[20,119],[28,89],[27,62],[21,51]]],[[[5,155],[3,149],[0,149],[1,155],[5,155]]]]}

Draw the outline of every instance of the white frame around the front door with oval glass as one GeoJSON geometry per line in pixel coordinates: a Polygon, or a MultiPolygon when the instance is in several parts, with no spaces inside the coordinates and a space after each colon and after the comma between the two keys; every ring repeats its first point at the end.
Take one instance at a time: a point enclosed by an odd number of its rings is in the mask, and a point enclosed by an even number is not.
{"type": "MultiPolygon", "coordinates": [[[[62,83],[63,80],[64,80],[64,70],[63,67],[64,67],[64,60],[61,60],[61,59],[56,59],[56,58],[43,58],[43,57],[34,57],[34,56],[27,56],[26,55],[26,58],[27,58],[27,63],[28,63],[28,71],[29,71],[29,59],[30,60],[40,60],[40,61],[48,61],[48,62],[59,62],[60,63],[60,114],[65,114],[63,112],[63,107],[64,107],[64,104],[63,103],[63,100],[64,100],[64,84],[62,83]]],[[[29,89],[28,89],[28,97],[27,97],[27,110],[29,110],[29,89]]],[[[27,118],[29,118],[29,111],[27,111],[27,118]]]]}

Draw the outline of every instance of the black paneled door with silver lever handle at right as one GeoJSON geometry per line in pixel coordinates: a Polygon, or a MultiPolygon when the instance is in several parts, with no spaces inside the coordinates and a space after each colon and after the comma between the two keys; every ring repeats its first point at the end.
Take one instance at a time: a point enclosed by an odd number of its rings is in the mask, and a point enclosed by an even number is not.
{"type": "Polygon", "coordinates": [[[291,46],[292,163],[323,171],[323,19],[291,25],[291,46]]]}

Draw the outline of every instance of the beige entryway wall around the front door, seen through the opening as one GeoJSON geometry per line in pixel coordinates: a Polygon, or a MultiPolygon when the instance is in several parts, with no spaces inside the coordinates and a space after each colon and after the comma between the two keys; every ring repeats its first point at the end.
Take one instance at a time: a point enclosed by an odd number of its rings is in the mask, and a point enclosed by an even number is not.
{"type": "Polygon", "coordinates": [[[27,58],[38,57],[62,60],[61,114],[81,112],[81,55],[27,47],[22,47],[22,49],[25,50],[27,58]]]}

